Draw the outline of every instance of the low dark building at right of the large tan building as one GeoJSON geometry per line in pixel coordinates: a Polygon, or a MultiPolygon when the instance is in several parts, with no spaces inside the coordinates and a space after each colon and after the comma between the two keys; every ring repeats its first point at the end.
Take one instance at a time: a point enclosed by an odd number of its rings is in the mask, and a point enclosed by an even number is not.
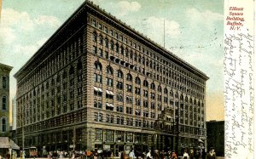
{"type": "Polygon", "coordinates": [[[207,122],[207,150],[212,148],[217,156],[224,156],[224,121],[207,122]]]}

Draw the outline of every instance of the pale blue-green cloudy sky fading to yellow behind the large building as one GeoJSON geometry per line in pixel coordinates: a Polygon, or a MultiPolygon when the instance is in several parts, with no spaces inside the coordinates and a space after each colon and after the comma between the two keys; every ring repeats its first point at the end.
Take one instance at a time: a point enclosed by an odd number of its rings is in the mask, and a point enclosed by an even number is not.
{"type": "MultiPolygon", "coordinates": [[[[92,0],[117,19],[207,74],[207,121],[224,120],[223,0],[92,0]],[[165,28],[164,28],[165,21],[165,28]],[[165,36],[164,36],[165,34],[165,36]],[[165,37],[165,40],[164,40],[165,37]]],[[[0,63],[14,74],[84,0],[3,0],[0,63]]]]}

